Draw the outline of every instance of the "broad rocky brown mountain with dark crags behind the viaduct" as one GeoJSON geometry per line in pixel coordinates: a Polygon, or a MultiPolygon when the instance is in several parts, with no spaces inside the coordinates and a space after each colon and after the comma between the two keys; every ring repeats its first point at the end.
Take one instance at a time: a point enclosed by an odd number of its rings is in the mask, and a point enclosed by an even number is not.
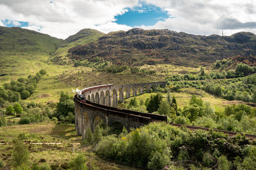
{"type": "Polygon", "coordinates": [[[85,45],[68,50],[67,57],[95,61],[102,57],[113,64],[209,65],[217,59],[256,55],[256,35],[238,32],[232,36],[196,36],[168,29],[109,32],[85,45]]]}

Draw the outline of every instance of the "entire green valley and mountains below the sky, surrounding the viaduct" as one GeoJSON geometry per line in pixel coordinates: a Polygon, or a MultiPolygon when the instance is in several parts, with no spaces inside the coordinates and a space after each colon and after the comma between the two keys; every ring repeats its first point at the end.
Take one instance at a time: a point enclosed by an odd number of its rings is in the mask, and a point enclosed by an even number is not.
{"type": "Polygon", "coordinates": [[[255,43],[251,32],[82,29],[63,40],[0,27],[0,169],[255,169],[255,139],[243,134],[100,122],[82,139],[73,100],[85,87],[166,81],[118,108],[256,134],[255,43]]]}

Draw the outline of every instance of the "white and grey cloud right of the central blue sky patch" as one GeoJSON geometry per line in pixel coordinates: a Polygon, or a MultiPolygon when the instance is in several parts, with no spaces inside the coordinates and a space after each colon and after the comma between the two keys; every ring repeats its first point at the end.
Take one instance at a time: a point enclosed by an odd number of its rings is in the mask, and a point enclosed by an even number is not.
{"type": "Polygon", "coordinates": [[[234,34],[239,31],[256,33],[256,1],[250,0],[147,0],[164,8],[173,18],[143,29],[171,29],[192,34],[234,34]],[[229,21],[229,22],[228,22],[229,21]]]}

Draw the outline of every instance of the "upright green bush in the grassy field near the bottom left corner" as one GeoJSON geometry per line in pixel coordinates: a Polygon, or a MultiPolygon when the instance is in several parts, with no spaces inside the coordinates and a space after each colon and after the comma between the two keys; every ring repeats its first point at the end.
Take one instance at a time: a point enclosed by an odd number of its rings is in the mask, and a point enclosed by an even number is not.
{"type": "Polygon", "coordinates": [[[18,140],[13,141],[13,166],[18,167],[22,166],[22,164],[28,164],[29,156],[30,153],[26,145],[24,145],[21,141],[18,140]]]}

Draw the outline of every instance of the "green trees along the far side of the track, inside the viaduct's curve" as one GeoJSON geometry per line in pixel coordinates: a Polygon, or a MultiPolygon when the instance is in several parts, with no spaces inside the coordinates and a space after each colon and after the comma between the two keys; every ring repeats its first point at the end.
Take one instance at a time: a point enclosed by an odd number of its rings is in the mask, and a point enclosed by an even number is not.
{"type": "Polygon", "coordinates": [[[170,94],[164,98],[160,93],[138,103],[132,98],[127,109],[167,115],[169,122],[198,125],[216,129],[256,134],[256,109],[245,104],[228,105],[225,111],[216,112],[211,103],[192,96],[189,104],[178,108],[177,100],[170,94]]]}

